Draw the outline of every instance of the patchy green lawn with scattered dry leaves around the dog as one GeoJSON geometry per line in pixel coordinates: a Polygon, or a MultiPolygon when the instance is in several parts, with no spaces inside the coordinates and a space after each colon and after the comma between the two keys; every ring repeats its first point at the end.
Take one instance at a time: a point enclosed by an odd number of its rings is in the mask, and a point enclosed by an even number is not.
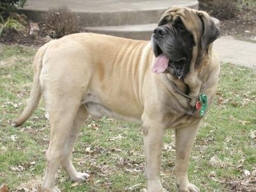
{"type": "MultiPolygon", "coordinates": [[[[0,44],[0,185],[12,191],[40,191],[49,124],[44,102],[14,128],[29,95],[35,47],[0,44]]],[[[255,190],[256,72],[222,63],[216,99],[201,125],[189,164],[189,179],[201,191],[255,190]],[[246,176],[246,170],[251,175],[246,176]],[[254,171],[254,172],[253,172],[254,171]]],[[[162,155],[164,188],[176,191],[173,176],[173,131],[166,131],[162,155]]],[[[117,120],[89,119],[74,150],[74,164],[91,177],[83,184],[58,171],[62,191],[140,191],[145,188],[141,128],[117,120]]]]}

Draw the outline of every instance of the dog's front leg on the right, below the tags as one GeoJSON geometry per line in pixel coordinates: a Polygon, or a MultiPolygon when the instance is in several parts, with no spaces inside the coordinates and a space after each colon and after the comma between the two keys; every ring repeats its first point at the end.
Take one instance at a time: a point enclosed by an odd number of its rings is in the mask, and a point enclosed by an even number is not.
{"type": "Polygon", "coordinates": [[[188,163],[199,125],[175,130],[175,176],[177,188],[181,192],[200,191],[188,181],[188,163]]]}

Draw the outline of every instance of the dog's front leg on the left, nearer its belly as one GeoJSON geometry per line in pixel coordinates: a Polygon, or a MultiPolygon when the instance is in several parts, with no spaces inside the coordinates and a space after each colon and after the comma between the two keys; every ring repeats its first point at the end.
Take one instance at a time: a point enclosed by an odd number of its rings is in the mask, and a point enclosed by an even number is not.
{"type": "MultiPolygon", "coordinates": [[[[156,125],[156,124],[155,124],[156,125]]],[[[161,150],[163,147],[164,129],[154,124],[143,124],[145,174],[147,177],[147,191],[166,191],[160,180],[161,150]]]]}

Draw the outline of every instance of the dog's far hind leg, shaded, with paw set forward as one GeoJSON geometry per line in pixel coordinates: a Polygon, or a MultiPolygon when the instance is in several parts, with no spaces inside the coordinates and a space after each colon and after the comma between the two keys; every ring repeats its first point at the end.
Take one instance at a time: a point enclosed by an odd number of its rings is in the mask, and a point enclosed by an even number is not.
{"type": "Polygon", "coordinates": [[[74,120],[74,123],[70,130],[70,134],[66,140],[65,147],[63,148],[63,152],[61,153],[60,163],[63,166],[63,169],[68,173],[70,179],[76,182],[83,182],[83,180],[89,177],[87,173],[77,172],[71,160],[72,150],[74,148],[79,132],[81,131],[84,120],[86,120],[87,117],[88,112],[86,111],[84,106],[81,106],[77,111],[76,119],[74,120]]]}

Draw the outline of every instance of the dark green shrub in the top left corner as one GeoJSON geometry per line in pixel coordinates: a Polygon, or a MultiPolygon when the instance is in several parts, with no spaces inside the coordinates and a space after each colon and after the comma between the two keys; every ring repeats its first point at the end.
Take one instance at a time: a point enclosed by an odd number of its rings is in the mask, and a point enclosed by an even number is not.
{"type": "Polygon", "coordinates": [[[22,8],[27,0],[1,0],[0,15],[2,19],[7,19],[10,14],[17,11],[17,8],[22,8]]]}

